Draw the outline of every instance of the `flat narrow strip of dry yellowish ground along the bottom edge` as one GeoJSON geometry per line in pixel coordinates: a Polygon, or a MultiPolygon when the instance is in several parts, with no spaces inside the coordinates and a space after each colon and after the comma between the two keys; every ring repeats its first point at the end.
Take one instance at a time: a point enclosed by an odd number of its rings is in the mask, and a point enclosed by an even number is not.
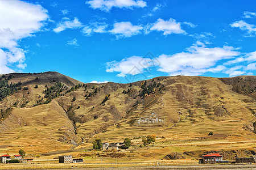
{"type": "Polygon", "coordinates": [[[256,169],[256,164],[189,164],[189,165],[135,165],[135,164],[1,164],[0,169],[256,169]]]}

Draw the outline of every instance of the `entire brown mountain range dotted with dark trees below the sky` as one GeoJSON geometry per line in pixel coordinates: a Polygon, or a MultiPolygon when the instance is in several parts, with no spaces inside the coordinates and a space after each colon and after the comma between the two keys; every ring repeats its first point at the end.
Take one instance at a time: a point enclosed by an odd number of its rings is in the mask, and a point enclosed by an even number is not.
{"type": "Polygon", "coordinates": [[[256,76],[165,76],[129,84],[84,84],[47,72],[2,75],[1,81],[6,79],[21,84],[0,101],[0,150],[5,152],[92,148],[96,138],[121,142],[126,137],[136,152],[126,154],[139,158],[255,150],[256,76]],[[150,151],[139,147],[148,134],[157,137],[150,151]]]}

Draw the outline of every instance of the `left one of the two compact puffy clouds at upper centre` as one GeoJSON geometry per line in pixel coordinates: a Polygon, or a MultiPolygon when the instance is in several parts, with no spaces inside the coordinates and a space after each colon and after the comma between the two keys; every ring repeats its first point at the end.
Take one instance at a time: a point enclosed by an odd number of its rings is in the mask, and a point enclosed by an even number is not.
{"type": "Polygon", "coordinates": [[[130,22],[114,23],[114,28],[109,32],[119,37],[131,37],[141,33],[143,27],[141,25],[133,25],[130,22]]]}

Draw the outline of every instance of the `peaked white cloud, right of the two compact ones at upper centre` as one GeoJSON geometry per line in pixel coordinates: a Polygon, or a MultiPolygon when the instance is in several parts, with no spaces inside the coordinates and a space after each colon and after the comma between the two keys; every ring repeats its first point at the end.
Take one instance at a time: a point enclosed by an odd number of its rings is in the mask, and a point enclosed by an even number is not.
{"type": "Polygon", "coordinates": [[[155,23],[148,24],[146,26],[145,33],[149,33],[151,31],[162,31],[163,35],[167,36],[172,33],[182,33],[186,32],[181,28],[180,23],[176,22],[175,19],[170,18],[169,20],[163,20],[159,18],[155,23]]]}

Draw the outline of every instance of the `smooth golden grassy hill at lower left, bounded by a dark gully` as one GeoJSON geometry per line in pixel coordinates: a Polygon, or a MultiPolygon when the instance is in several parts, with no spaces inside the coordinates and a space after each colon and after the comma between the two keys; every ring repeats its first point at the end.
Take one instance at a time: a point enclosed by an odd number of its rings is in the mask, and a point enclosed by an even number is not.
{"type": "Polygon", "coordinates": [[[10,145],[10,152],[24,148],[36,154],[65,150],[77,143],[72,122],[55,101],[33,108],[13,108],[1,124],[0,133],[0,145],[10,145]]]}

